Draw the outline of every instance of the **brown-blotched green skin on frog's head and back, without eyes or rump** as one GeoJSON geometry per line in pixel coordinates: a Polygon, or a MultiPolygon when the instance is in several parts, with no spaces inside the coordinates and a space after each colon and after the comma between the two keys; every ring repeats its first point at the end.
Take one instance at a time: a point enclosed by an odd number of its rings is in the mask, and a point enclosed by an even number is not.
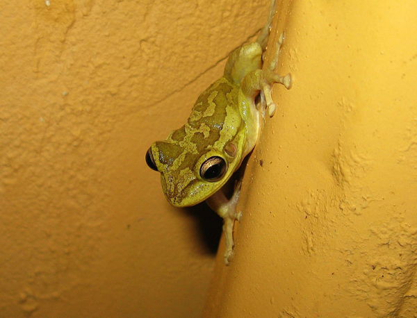
{"type": "Polygon", "coordinates": [[[173,206],[204,201],[240,166],[243,151],[234,157],[224,151],[230,142],[243,149],[247,135],[238,103],[239,86],[228,77],[222,76],[199,96],[184,126],[152,145],[163,192],[173,206]],[[199,167],[211,156],[227,162],[227,173],[214,183],[199,176],[199,167]]]}

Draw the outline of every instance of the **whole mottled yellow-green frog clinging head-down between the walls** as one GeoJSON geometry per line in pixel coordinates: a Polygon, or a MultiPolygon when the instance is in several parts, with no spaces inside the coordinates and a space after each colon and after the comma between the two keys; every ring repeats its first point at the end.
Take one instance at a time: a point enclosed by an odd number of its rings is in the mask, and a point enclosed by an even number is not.
{"type": "Polygon", "coordinates": [[[275,2],[256,41],[231,51],[223,76],[199,95],[186,124],[154,142],[145,155],[147,165],[161,174],[163,193],[172,206],[206,201],[222,217],[225,265],[234,256],[234,223],[242,216],[236,209],[242,179],[231,196],[225,194],[224,185],[254,149],[266,113],[275,114],[272,85],[279,83],[288,90],[292,85],[291,74],[274,72],[284,32],[272,62],[263,65],[275,2]]]}

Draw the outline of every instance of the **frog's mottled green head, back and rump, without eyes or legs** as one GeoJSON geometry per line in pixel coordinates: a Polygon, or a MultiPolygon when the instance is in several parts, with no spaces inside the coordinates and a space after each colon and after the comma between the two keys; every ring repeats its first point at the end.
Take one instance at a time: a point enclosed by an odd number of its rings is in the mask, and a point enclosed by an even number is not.
{"type": "Polygon", "coordinates": [[[206,200],[254,148],[259,131],[254,99],[263,79],[262,53],[258,42],[234,50],[224,76],[199,96],[188,122],[165,141],[152,144],[163,192],[172,206],[193,206],[206,200]],[[225,151],[231,145],[237,150],[233,156],[225,151]],[[202,163],[212,156],[227,162],[226,174],[216,182],[204,181],[199,175],[202,163]]]}

